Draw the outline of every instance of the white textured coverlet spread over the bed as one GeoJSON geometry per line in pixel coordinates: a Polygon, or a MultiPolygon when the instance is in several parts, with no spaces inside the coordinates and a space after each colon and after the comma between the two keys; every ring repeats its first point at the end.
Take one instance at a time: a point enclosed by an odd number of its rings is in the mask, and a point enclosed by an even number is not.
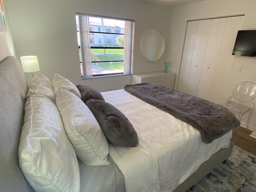
{"type": "Polygon", "coordinates": [[[109,154],[124,175],[126,192],[173,191],[230,144],[232,131],[204,144],[198,130],[124,90],[102,95],[126,115],[139,138],[135,148],[109,143],[109,154]]]}

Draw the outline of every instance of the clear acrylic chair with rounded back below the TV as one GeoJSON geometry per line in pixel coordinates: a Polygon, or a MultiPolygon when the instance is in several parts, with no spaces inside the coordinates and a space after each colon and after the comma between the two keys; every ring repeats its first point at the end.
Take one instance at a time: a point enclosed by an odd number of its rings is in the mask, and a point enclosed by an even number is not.
{"type": "Polygon", "coordinates": [[[249,112],[246,124],[246,129],[248,129],[254,110],[253,100],[255,96],[256,84],[250,81],[243,81],[234,86],[233,94],[228,98],[227,103],[220,105],[230,110],[239,121],[241,121],[244,114],[249,112]]]}

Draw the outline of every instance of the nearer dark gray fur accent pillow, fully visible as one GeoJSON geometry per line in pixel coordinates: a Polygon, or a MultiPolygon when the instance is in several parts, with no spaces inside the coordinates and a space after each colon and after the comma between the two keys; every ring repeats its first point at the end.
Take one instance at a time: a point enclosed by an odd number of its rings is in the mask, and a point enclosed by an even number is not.
{"type": "Polygon", "coordinates": [[[120,147],[135,147],[139,140],[136,131],[126,116],[111,104],[102,100],[90,99],[86,102],[106,138],[120,147]]]}

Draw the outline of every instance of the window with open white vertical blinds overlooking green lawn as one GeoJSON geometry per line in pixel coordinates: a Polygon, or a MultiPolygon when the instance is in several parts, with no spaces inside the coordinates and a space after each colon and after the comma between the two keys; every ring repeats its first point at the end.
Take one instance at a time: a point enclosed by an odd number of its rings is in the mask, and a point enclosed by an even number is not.
{"type": "Polygon", "coordinates": [[[76,25],[83,78],[131,74],[134,20],[76,14],[76,25]],[[98,31],[94,31],[94,28],[98,31]],[[117,33],[115,28],[120,32],[117,33]],[[115,32],[111,32],[111,29],[115,32]],[[92,45],[93,38],[98,38],[98,45],[92,45]]]}

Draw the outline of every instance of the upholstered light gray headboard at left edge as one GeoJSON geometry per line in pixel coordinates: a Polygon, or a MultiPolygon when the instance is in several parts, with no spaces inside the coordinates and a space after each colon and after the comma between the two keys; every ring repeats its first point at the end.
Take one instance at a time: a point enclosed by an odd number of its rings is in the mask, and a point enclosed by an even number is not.
{"type": "Polygon", "coordinates": [[[28,85],[22,66],[10,56],[0,63],[0,191],[34,191],[18,160],[28,85]]]}

